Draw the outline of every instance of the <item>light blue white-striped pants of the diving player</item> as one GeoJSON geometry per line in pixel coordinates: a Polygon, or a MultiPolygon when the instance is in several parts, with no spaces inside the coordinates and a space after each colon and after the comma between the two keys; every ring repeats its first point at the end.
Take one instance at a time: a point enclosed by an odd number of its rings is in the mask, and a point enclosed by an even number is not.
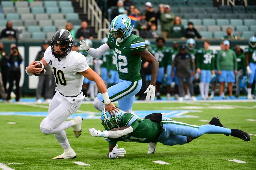
{"type": "Polygon", "coordinates": [[[170,118],[162,118],[164,131],[160,135],[158,142],[164,145],[183,145],[187,142],[187,137],[199,137],[203,134],[231,134],[231,130],[214,125],[190,125],[183,122],[174,121],[170,118]]]}

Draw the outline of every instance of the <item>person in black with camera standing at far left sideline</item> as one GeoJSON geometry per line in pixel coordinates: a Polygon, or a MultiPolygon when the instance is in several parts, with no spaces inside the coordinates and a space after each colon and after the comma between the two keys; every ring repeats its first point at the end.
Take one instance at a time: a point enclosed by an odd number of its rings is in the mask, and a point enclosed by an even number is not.
{"type": "Polygon", "coordinates": [[[21,68],[20,64],[22,62],[22,57],[19,54],[18,48],[13,47],[11,48],[11,53],[8,62],[10,63],[10,76],[9,76],[9,89],[8,89],[8,96],[7,96],[7,101],[11,102],[11,91],[13,89],[13,81],[15,80],[16,84],[16,101],[19,101],[19,80],[21,78],[21,68]]]}

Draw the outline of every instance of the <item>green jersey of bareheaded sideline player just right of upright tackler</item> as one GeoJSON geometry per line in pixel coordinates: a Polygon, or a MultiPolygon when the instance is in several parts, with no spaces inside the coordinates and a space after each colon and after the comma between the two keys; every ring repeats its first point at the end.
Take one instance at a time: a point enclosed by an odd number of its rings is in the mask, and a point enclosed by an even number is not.
{"type": "Polygon", "coordinates": [[[152,54],[157,58],[159,62],[159,67],[164,67],[167,63],[167,60],[170,56],[170,49],[163,46],[162,48],[158,48],[157,46],[152,48],[152,54]]]}

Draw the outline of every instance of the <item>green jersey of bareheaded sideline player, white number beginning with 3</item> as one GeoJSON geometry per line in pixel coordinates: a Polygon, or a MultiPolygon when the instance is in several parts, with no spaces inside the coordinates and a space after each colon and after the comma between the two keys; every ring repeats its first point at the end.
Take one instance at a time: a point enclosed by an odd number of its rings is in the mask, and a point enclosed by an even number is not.
{"type": "Polygon", "coordinates": [[[197,68],[201,70],[212,70],[211,61],[213,57],[213,50],[206,51],[205,49],[199,49],[196,54],[197,68]]]}

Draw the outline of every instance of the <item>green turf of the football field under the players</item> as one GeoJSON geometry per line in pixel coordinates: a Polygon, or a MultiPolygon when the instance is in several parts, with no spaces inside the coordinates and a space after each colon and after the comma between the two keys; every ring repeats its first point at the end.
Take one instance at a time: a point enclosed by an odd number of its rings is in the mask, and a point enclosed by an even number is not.
{"type": "MultiPolygon", "coordinates": [[[[0,103],[1,112],[47,112],[45,108],[31,105],[0,103]]],[[[133,110],[190,109],[187,115],[197,118],[173,118],[193,125],[203,125],[218,116],[227,128],[241,129],[256,134],[255,102],[233,103],[135,103],[133,110]]],[[[93,104],[82,104],[79,110],[97,112],[93,104]]],[[[150,112],[149,112],[150,113],[150,112]]],[[[185,114],[186,115],[186,114],[185,114]]],[[[91,137],[88,128],[103,130],[100,120],[86,119],[82,124],[82,135],[74,138],[73,128],[67,129],[67,138],[77,154],[76,159],[52,160],[62,154],[63,149],[54,135],[44,135],[39,129],[43,117],[0,116],[0,169],[1,163],[22,163],[6,165],[20,170],[66,170],[66,169],[256,169],[256,136],[250,142],[223,134],[205,134],[185,145],[164,146],[158,143],[155,154],[147,154],[146,143],[118,142],[119,148],[125,148],[124,158],[108,159],[108,143],[104,138],[91,137]],[[8,124],[7,122],[16,122],[8,124]],[[235,163],[227,159],[238,159],[247,163],[235,163]],[[169,165],[151,161],[161,160],[169,165]],[[81,161],[91,166],[81,166],[81,161]]],[[[3,168],[2,168],[3,169],[3,168]]]]}

